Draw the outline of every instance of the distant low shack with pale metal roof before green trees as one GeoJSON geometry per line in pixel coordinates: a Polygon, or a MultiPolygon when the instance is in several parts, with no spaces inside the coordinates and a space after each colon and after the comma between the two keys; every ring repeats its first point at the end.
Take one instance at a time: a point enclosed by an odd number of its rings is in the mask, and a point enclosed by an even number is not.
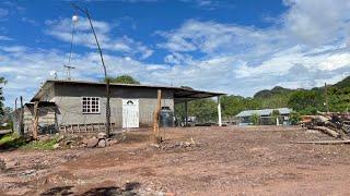
{"type": "Polygon", "coordinates": [[[291,109],[289,108],[277,108],[277,109],[264,109],[264,110],[245,110],[236,114],[238,119],[238,125],[252,125],[254,124],[252,121],[253,115],[258,115],[259,125],[289,125],[290,124],[290,113],[291,109]],[[272,117],[273,110],[279,112],[277,117],[278,120],[272,117]]]}

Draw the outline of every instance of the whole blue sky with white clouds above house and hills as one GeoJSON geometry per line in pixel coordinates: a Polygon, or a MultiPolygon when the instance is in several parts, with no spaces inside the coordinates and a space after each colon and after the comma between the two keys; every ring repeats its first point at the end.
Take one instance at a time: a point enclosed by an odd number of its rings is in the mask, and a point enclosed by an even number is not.
{"type": "MultiPolygon", "coordinates": [[[[350,73],[350,1],[339,0],[115,0],[86,7],[108,74],[143,84],[191,86],[253,96],[276,85],[311,88],[350,73]]],[[[86,19],[70,1],[0,2],[0,76],[5,103],[28,100],[40,83],[103,77],[86,19]]]]}

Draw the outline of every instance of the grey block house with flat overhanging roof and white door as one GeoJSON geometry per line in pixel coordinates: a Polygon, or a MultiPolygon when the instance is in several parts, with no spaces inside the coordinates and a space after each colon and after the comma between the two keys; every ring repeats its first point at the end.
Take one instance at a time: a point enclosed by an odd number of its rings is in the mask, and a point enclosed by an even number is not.
{"type": "MultiPolygon", "coordinates": [[[[175,103],[224,95],[180,87],[113,83],[109,87],[112,128],[152,126],[153,112],[158,103],[158,89],[162,90],[161,107],[173,112],[175,103]]],[[[46,81],[40,87],[31,100],[31,106],[33,102],[54,105],[55,113],[48,112],[50,117],[47,118],[50,121],[55,118],[59,132],[100,132],[104,131],[106,119],[105,95],[105,83],[51,79],[46,81]]],[[[38,109],[42,110],[43,107],[39,105],[38,109]]],[[[220,101],[218,110],[221,110],[220,101]]],[[[33,114],[27,117],[27,119],[31,118],[33,114]]],[[[39,117],[39,119],[43,118],[46,117],[39,117]]],[[[221,119],[221,112],[219,112],[219,119],[221,119]]]]}

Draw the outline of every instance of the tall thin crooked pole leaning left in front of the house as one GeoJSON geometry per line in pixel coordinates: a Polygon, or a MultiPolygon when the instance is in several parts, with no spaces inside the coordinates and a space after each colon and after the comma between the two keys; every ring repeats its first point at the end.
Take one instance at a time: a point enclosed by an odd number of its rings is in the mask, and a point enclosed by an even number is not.
{"type": "MultiPolygon", "coordinates": [[[[95,33],[95,28],[94,28],[94,26],[92,24],[91,16],[90,16],[90,13],[89,13],[88,9],[86,8],[82,9],[82,8],[78,7],[74,3],[71,3],[71,5],[73,7],[74,10],[80,11],[81,13],[83,13],[83,14],[85,14],[88,16],[91,30],[94,34],[94,38],[95,38],[95,41],[96,41],[96,45],[97,45],[97,49],[98,49],[98,53],[100,53],[100,57],[101,57],[101,62],[102,62],[102,66],[103,66],[104,75],[105,75],[105,83],[106,83],[106,98],[107,98],[107,100],[106,100],[106,134],[107,134],[107,137],[109,137],[110,136],[109,79],[108,79],[108,76],[107,76],[107,69],[106,69],[106,65],[105,65],[105,61],[103,59],[102,49],[101,49],[101,46],[100,46],[100,42],[98,42],[98,39],[97,39],[97,35],[95,33]]],[[[78,17],[75,16],[75,19],[78,19],[78,17]]]]}

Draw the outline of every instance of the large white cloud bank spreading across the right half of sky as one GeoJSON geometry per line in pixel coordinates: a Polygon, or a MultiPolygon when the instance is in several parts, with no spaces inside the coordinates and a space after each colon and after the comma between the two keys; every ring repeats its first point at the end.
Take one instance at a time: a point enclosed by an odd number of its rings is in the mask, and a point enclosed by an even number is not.
{"type": "MultiPolygon", "coordinates": [[[[164,62],[188,64],[182,59],[196,59],[194,53],[201,54],[200,62],[215,59],[211,66],[215,79],[212,75],[205,79],[225,86],[225,91],[243,95],[276,85],[310,88],[349,75],[349,1],[284,3],[289,10],[276,20],[279,24],[264,29],[189,20],[176,29],[159,32],[165,41],[158,46],[170,52],[164,62]]],[[[189,73],[192,77],[203,76],[201,69],[189,73]]]]}

